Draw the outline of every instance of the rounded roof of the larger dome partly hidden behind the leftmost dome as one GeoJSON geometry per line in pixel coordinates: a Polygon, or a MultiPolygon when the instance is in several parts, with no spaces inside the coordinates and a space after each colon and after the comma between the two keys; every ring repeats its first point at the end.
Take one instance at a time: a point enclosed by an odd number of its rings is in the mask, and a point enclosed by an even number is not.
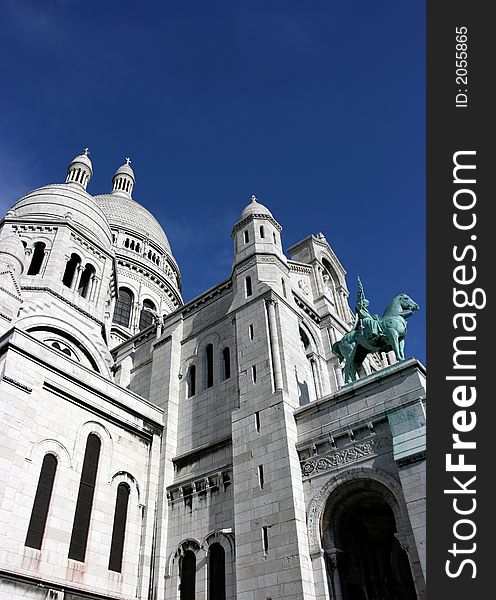
{"type": "Polygon", "coordinates": [[[101,194],[94,196],[94,199],[105,213],[111,227],[135,231],[172,254],[169,240],[160,223],[144,206],[120,194],[101,194]]]}

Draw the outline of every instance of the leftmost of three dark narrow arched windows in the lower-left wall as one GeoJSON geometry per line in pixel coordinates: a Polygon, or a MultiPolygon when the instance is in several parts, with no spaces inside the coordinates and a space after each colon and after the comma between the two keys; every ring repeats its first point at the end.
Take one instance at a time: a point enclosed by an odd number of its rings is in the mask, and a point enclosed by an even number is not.
{"type": "Polygon", "coordinates": [[[53,454],[45,454],[26,535],[25,545],[30,548],[37,548],[38,550],[41,548],[56,471],[57,459],[53,454]]]}

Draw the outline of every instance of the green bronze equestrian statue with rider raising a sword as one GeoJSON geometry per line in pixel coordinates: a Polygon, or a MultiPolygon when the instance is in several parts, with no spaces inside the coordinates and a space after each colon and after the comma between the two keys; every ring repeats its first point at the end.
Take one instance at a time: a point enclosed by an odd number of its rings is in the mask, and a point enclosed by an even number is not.
{"type": "Polygon", "coordinates": [[[371,314],[368,306],[359,277],[353,329],[332,346],[334,354],[345,361],[345,383],[356,379],[357,371],[369,352],[393,350],[397,360],[404,360],[406,319],[419,309],[407,294],[395,296],[382,317],[371,314]]]}

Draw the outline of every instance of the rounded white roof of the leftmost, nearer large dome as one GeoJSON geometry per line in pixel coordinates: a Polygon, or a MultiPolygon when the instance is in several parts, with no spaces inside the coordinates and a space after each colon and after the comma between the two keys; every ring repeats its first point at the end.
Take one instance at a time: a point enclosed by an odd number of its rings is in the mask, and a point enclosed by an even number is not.
{"type": "Polygon", "coordinates": [[[103,246],[112,244],[106,216],[97,202],[84,189],[66,183],[46,185],[29,192],[12,207],[16,218],[70,221],[88,237],[103,246]]]}

